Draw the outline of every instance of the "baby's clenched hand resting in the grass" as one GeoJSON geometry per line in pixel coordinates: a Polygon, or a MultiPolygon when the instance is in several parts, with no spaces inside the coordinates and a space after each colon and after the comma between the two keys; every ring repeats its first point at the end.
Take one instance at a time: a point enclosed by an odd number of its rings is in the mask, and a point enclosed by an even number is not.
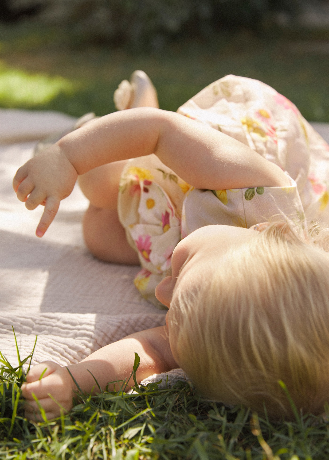
{"type": "Polygon", "coordinates": [[[45,410],[48,420],[58,417],[61,407],[67,412],[70,411],[73,406],[74,388],[74,382],[67,368],[62,368],[52,361],[41,362],[34,366],[26,376],[26,383],[22,385],[22,393],[26,399],[25,417],[29,420],[42,420],[33,394],[45,410]]]}

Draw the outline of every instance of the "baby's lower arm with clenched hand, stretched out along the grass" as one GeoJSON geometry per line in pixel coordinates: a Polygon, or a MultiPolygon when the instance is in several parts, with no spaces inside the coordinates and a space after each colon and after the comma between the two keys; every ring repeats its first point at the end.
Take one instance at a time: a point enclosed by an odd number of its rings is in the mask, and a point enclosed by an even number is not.
{"type": "MultiPolygon", "coordinates": [[[[94,391],[99,391],[91,374],[94,375],[102,390],[109,382],[115,380],[119,382],[109,385],[109,391],[115,388],[119,390],[123,385],[122,380],[126,380],[127,389],[129,389],[131,385],[134,385],[132,378],[128,379],[132,373],[135,352],[141,358],[136,372],[138,383],[149,375],[160,374],[178,367],[170,351],[166,328],[166,326],[160,326],[131,334],[118,342],[106,345],[68,368],[81,390],[87,393],[90,393],[93,387],[94,391]]],[[[31,368],[27,374],[27,384],[22,385],[22,389],[23,396],[27,399],[25,416],[32,420],[40,418],[33,393],[45,410],[47,419],[51,420],[59,416],[60,407],[49,397],[49,394],[66,411],[69,411],[72,408],[72,397],[76,385],[67,368],[46,361],[31,368]],[[44,372],[44,369],[47,370],[44,372]],[[40,377],[41,380],[39,380],[40,377]]]]}

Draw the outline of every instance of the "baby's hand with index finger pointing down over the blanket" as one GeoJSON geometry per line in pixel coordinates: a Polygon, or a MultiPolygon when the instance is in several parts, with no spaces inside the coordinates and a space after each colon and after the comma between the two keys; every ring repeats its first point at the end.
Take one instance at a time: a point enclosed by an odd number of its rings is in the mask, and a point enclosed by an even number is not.
{"type": "Polygon", "coordinates": [[[56,144],[18,169],[12,182],[18,200],[25,201],[29,210],[39,204],[45,207],[36,236],[44,235],[58,211],[59,202],[73,190],[76,178],[76,169],[56,144]]]}

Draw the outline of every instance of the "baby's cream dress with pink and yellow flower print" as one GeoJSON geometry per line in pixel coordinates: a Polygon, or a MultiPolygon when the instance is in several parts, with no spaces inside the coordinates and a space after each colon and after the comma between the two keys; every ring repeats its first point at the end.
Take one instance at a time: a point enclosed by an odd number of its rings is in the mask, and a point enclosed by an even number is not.
{"type": "Polygon", "coordinates": [[[288,187],[198,190],[156,155],[123,169],[118,215],[141,270],[134,280],[158,307],[154,290],[178,242],[211,224],[248,228],[266,221],[329,224],[329,146],[287,98],[260,81],[228,75],[207,86],[178,113],[218,129],[281,167],[288,187]]]}

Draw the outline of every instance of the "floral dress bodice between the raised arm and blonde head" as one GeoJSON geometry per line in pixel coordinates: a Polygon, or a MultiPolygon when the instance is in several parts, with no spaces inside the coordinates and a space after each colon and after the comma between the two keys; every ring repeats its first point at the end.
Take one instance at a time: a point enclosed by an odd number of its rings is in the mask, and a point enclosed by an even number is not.
{"type": "MultiPolygon", "coordinates": [[[[288,176],[289,177],[289,176],[288,176]]],[[[292,178],[288,187],[191,190],[182,208],[182,238],[206,225],[249,228],[261,222],[305,222],[303,206],[292,178]]]]}

